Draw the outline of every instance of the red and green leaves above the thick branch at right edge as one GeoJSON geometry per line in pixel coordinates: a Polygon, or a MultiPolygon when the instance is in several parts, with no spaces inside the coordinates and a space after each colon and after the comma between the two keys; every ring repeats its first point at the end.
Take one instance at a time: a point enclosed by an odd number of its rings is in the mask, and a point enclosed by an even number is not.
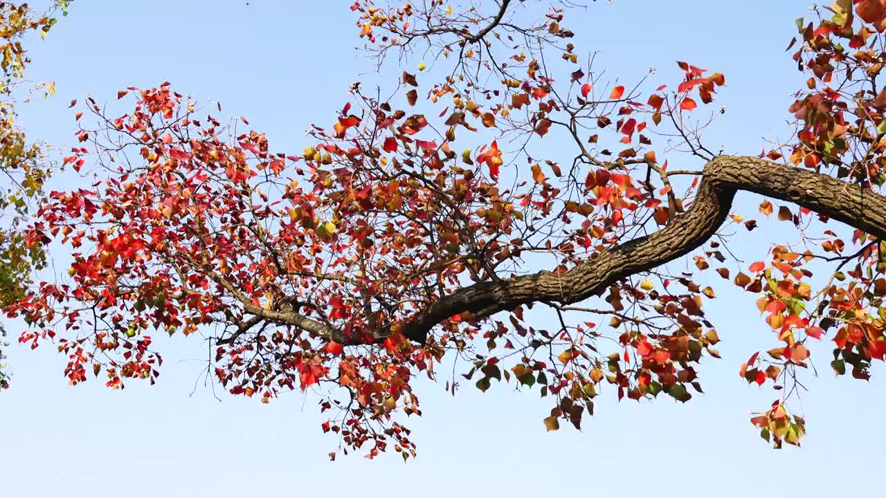
{"type": "Polygon", "coordinates": [[[811,77],[789,109],[800,124],[789,157],[797,165],[831,168],[837,177],[879,186],[886,182],[886,93],[876,84],[882,71],[877,44],[886,8],[880,0],[838,0],[829,11],[833,16],[818,23],[797,22],[803,47],[793,57],[811,77]]]}

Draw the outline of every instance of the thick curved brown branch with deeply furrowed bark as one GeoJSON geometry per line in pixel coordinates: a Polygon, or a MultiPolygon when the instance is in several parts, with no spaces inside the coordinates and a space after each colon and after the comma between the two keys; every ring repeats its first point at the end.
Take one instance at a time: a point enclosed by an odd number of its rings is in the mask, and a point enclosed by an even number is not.
{"type": "Polygon", "coordinates": [[[424,343],[437,323],[459,313],[488,316],[530,302],[586,300],[626,276],[661,266],[703,245],[726,220],[736,191],[789,201],[886,239],[886,198],[874,191],[769,160],[719,156],[705,165],[692,206],[663,230],[598,253],[563,273],[541,271],[463,287],[414,316],[401,332],[424,343]]]}

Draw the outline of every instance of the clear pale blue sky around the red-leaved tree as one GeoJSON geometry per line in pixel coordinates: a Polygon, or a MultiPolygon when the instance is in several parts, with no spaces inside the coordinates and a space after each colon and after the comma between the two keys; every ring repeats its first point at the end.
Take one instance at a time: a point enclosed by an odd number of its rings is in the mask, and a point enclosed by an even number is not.
{"type": "MultiPolygon", "coordinates": [[[[486,0],[483,0],[486,3],[486,0]]],[[[354,51],[346,0],[78,0],[31,50],[35,81],[58,95],[22,109],[31,136],[70,146],[71,99],[87,93],[113,103],[118,89],[168,80],[224,113],[248,116],[276,149],[300,151],[312,121],[330,121],[346,88],[369,62],[354,51]]],[[[601,66],[626,77],[649,66],[673,81],[674,60],[727,75],[719,103],[727,114],[711,144],[754,154],[767,136],[787,133],[792,90],[804,81],[783,50],[809,0],[615,0],[588,2],[573,14],[579,46],[600,50],[601,66]]],[[[666,80],[663,76],[663,80],[666,80]]],[[[61,180],[64,180],[62,178],[61,180]]],[[[759,198],[742,195],[754,214],[759,198]]],[[[742,211],[741,209],[739,211],[742,211]]],[[[777,222],[742,234],[746,261],[761,259],[777,222]]],[[[816,361],[802,412],[802,448],[773,451],[748,422],[773,392],[738,376],[770,334],[753,306],[727,285],[708,307],[723,339],[723,358],[703,364],[707,390],[687,405],[601,401],[583,432],[546,433],[550,406],[508,385],[454,398],[422,385],[424,417],[413,420],[420,455],[375,462],[326,453],[335,440],[319,430],[315,398],[298,393],[269,405],[232,398],[199,382],[206,345],[176,337],[166,344],[158,385],[100,382],[69,387],[65,357],[12,346],[13,389],[0,394],[0,496],[129,498],[418,494],[745,497],[882,493],[876,423],[886,409],[882,366],[869,383],[835,379],[827,346],[816,361]]],[[[6,323],[15,335],[19,324],[6,323]]],[[[800,407],[798,407],[800,408],[800,407]]]]}

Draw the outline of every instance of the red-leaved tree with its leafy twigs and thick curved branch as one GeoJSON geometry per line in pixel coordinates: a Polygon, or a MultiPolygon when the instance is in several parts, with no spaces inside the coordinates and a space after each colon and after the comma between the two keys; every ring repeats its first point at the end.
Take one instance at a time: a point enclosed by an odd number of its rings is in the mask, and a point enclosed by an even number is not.
{"type": "Polygon", "coordinates": [[[734,313],[771,330],[740,375],[773,389],[750,424],[774,447],[804,437],[790,403],[813,358],[867,379],[886,356],[886,2],[797,19],[796,130],[736,154],[704,140],[728,126],[709,106],[724,74],[611,80],[571,43],[569,3],[350,10],[361,51],[397,71],[355,83],[300,153],[166,82],[121,89],[124,113],[81,103],[63,162],[98,180],[51,191],[23,232],[73,263],[6,303],[21,343],[53,342],[71,384],[122,388],[160,375],[154,334],[202,331],[230,393],[310,389],[338,449],[404,459],[417,377],[539,393],[548,431],[580,428],[598,394],[689,401],[719,356],[718,286],[757,296],[734,313]],[[742,261],[727,232],[758,222],[738,191],[799,242],[742,261]]]}

